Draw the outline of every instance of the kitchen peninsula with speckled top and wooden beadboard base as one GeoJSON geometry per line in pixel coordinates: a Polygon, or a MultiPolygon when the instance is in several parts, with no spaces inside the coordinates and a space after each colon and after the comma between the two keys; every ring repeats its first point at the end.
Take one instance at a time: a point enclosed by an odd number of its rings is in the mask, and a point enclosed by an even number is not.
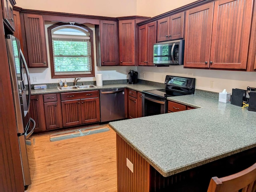
{"type": "Polygon", "coordinates": [[[119,192],[206,191],[212,176],[255,163],[255,112],[198,94],[168,100],[197,109],[110,123],[119,192]]]}

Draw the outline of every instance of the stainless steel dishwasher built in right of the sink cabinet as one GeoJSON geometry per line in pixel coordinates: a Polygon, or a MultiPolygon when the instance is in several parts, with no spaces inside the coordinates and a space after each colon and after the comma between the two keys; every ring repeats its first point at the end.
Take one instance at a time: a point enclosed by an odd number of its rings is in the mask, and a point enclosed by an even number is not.
{"type": "Polygon", "coordinates": [[[125,118],[124,88],[100,90],[101,122],[125,118]]]}

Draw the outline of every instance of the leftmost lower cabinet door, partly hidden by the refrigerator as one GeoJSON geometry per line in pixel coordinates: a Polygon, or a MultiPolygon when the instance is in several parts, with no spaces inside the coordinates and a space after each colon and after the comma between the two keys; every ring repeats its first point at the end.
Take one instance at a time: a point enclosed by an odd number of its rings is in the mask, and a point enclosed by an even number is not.
{"type": "Polygon", "coordinates": [[[32,95],[30,98],[30,117],[35,120],[36,127],[34,133],[45,131],[44,103],[42,95],[32,95]]]}

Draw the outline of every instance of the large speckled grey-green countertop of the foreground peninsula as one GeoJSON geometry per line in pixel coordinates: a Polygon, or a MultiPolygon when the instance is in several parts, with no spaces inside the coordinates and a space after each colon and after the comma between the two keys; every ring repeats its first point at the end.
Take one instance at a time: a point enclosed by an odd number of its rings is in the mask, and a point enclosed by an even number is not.
{"type": "Polygon", "coordinates": [[[256,147],[256,112],[200,95],[168,100],[197,109],[109,123],[163,176],[256,147]]]}

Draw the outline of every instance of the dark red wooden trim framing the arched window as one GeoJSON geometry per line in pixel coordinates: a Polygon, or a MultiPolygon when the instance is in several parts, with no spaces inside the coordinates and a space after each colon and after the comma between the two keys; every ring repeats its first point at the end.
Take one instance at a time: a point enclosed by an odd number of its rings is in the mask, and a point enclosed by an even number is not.
{"type": "Polygon", "coordinates": [[[87,30],[90,33],[90,44],[91,44],[91,74],[54,74],[54,58],[53,58],[53,50],[52,50],[52,29],[66,25],[70,26],[68,23],[56,23],[54,25],[51,25],[47,28],[48,32],[48,42],[49,42],[49,53],[50,53],[50,66],[51,66],[51,76],[52,78],[74,78],[76,77],[94,77],[95,76],[95,69],[94,69],[94,46],[93,46],[93,31],[89,27],[86,27],[82,24],[75,23],[75,26],[81,27],[84,30],[87,30]]]}

